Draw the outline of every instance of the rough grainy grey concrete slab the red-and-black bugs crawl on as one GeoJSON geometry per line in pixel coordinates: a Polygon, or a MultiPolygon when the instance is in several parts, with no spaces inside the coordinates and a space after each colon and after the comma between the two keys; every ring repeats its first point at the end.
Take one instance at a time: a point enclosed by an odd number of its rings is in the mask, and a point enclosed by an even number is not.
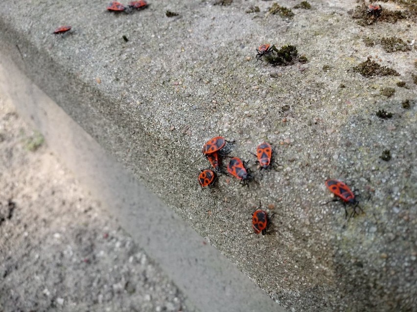
{"type": "Polygon", "coordinates": [[[158,1],[130,15],[105,12],[98,0],[35,2],[0,8],[1,48],[279,304],[416,311],[417,53],[364,41],[395,34],[413,42],[413,21],[359,26],[347,14],[354,1],[311,1],[292,19],[267,15],[265,1],[158,1]],[[260,12],[245,13],[251,5],[260,12]],[[61,24],[73,34],[52,35],[61,24]],[[308,62],[254,64],[264,42],[294,44],[308,62]],[[400,76],[354,72],[368,56],[400,76]],[[380,93],[387,87],[395,89],[389,98],[380,93]],[[379,109],[393,117],[379,119],[379,109]],[[218,188],[202,190],[201,147],[216,135],[236,140],[231,155],[254,171],[250,151],[267,140],[280,166],[249,188],[221,176],[218,188]],[[380,159],[386,149],[388,162],[380,159]],[[341,203],[323,206],[327,178],[358,189],[365,214],[347,222],[341,203]],[[270,235],[251,234],[259,200],[275,213],[270,235]]]}

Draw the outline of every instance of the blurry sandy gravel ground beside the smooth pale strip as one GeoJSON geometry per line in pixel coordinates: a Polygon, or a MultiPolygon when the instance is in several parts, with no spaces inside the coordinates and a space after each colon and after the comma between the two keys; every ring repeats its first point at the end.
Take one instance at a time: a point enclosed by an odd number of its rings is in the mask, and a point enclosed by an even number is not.
{"type": "Polygon", "coordinates": [[[0,311],[191,311],[0,97],[0,311]]]}

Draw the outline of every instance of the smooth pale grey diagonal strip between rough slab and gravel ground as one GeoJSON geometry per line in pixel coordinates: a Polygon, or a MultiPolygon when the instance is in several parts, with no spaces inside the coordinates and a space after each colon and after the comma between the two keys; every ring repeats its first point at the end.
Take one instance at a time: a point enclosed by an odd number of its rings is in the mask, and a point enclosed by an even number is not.
{"type": "Polygon", "coordinates": [[[284,310],[191,229],[33,84],[4,55],[0,87],[133,239],[205,312],[284,310]]]}

